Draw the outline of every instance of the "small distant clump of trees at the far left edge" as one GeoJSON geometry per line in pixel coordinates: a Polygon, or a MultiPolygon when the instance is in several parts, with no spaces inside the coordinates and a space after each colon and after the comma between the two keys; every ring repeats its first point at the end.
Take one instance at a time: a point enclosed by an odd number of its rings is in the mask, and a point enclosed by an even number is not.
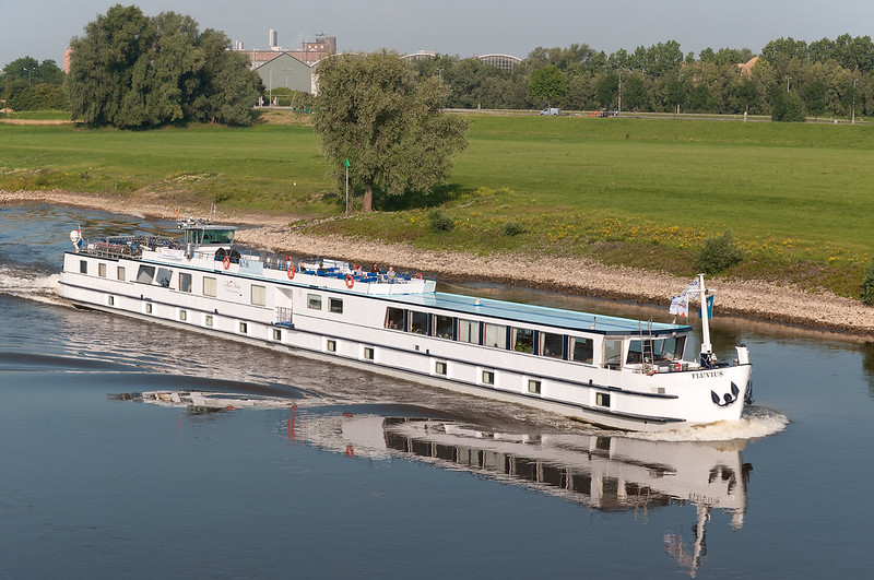
{"type": "Polygon", "coordinates": [[[54,60],[39,62],[32,57],[13,60],[0,74],[0,99],[13,110],[63,110],[68,107],[63,78],[63,71],[54,60]]]}

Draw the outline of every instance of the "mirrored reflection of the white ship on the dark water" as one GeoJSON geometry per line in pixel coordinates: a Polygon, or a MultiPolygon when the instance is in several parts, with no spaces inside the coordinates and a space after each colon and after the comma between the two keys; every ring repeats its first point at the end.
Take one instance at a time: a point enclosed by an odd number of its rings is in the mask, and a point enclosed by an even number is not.
{"type": "Polygon", "coordinates": [[[299,406],[300,401],[287,399],[201,391],[117,396],[180,407],[187,415],[285,409],[279,430],[297,445],[373,460],[423,461],[595,510],[633,511],[645,522],[650,509],[693,505],[697,516],[693,536],[684,542],[680,534],[664,535],[665,553],[693,577],[707,555],[705,526],[711,510],[729,513],[735,531],[746,513],[753,467],[741,457],[744,440],[653,441],[615,435],[513,433],[457,421],[386,416],[385,409],[299,406]]]}

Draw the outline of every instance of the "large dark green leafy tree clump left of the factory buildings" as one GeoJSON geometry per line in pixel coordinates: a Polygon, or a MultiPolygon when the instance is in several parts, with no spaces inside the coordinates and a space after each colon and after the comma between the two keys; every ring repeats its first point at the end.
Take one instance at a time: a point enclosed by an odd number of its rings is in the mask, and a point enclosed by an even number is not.
{"type": "Polygon", "coordinates": [[[176,121],[251,122],[260,88],[223,33],[202,34],[190,16],[145,16],[116,4],[71,42],[67,94],[73,119],[157,127],[176,121]]]}

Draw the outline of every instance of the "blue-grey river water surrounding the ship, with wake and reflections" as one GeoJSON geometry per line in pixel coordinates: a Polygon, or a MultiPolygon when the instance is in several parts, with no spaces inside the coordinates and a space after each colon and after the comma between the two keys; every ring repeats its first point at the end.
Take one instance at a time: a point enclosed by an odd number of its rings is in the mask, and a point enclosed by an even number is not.
{"type": "MultiPolygon", "coordinates": [[[[712,342],[724,355],[749,346],[756,403],[736,426],[629,436],[74,309],[57,274],[78,225],[96,236],[169,224],[0,206],[0,579],[823,578],[874,566],[870,344],[720,318],[717,296],[712,342]],[[188,390],[217,394],[139,396],[188,390]]],[[[444,287],[668,320],[666,307],[444,287]]]]}

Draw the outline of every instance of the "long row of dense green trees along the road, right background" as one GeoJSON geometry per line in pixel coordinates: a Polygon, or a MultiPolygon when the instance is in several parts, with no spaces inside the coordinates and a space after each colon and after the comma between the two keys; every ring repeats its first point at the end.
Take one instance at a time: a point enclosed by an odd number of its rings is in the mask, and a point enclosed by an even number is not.
{"type": "Polygon", "coordinates": [[[874,114],[874,43],[843,35],[807,45],[780,38],[754,63],[749,49],[707,48],[696,58],[670,40],[611,55],[588,45],[535,48],[513,71],[476,59],[438,56],[416,61],[421,74],[450,87],[460,108],[791,115],[874,114]],[[747,64],[741,67],[741,64],[747,64]]]}

